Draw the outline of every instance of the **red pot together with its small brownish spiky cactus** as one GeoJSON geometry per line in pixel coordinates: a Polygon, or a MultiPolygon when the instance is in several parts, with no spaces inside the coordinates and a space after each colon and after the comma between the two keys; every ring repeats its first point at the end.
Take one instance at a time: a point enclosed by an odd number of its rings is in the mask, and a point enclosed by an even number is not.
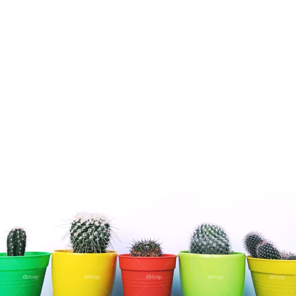
{"type": "Polygon", "coordinates": [[[133,241],[119,267],[125,296],[170,296],[177,255],[164,254],[155,240],[133,241]]]}

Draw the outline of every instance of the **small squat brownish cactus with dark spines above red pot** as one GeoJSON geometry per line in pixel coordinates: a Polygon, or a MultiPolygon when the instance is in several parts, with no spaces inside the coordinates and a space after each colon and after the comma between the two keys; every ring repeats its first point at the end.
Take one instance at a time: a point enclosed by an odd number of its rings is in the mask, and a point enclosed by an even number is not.
{"type": "Polygon", "coordinates": [[[160,257],[162,256],[161,244],[155,240],[142,239],[141,241],[133,241],[130,248],[131,257],[160,257]]]}

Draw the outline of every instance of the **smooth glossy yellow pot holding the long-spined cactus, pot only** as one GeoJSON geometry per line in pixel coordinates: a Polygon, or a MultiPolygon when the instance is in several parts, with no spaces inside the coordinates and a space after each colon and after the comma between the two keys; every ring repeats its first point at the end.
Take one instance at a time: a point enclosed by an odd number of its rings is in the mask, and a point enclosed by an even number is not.
{"type": "Polygon", "coordinates": [[[110,296],[112,294],[117,252],[52,253],[52,287],[54,296],[110,296]]]}

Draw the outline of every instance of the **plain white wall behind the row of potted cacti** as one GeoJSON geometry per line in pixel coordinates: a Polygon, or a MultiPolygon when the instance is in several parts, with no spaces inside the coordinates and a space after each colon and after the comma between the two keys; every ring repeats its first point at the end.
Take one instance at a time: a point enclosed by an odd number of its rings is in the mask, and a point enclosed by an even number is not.
{"type": "Polygon", "coordinates": [[[80,210],[115,217],[119,253],[208,221],[296,251],[294,0],[0,3],[2,252],[15,225],[64,248],[80,210]]]}

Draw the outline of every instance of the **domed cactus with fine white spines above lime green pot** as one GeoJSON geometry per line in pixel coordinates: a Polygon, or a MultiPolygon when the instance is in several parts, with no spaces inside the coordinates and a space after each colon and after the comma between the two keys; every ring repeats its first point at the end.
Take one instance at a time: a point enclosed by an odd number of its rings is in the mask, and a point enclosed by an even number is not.
{"type": "Polygon", "coordinates": [[[217,225],[200,224],[190,240],[190,253],[195,254],[231,254],[231,246],[224,229],[217,225]]]}

